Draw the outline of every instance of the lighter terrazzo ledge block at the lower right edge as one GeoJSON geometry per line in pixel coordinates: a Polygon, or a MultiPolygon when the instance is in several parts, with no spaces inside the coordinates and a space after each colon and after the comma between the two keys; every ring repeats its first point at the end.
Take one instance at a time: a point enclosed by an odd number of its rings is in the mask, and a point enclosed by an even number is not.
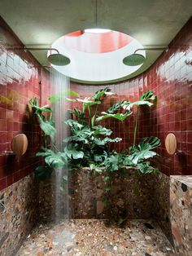
{"type": "Polygon", "coordinates": [[[171,176],[171,223],[178,256],[192,255],[192,176],[171,176]]]}

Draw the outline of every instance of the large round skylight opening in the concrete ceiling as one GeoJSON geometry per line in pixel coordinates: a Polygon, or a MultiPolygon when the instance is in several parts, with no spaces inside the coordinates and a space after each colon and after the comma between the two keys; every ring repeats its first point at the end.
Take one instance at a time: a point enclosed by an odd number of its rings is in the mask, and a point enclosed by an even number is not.
{"type": "Polygon", "coordinates": [[[127,34],[102,30],[79,30],[57,39],[51,47],[71,62],[66,66],[52,65],[53,68],[81,82],[111,82],[137,71],[142,64],[127,66],[123,60],[143,48],[142,44],[127,34]]]}

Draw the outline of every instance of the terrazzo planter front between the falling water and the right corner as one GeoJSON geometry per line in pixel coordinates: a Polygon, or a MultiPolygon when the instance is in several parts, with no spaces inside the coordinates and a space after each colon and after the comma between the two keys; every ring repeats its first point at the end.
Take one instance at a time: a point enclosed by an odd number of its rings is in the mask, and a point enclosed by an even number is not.
{"type": "MultiPolygon", "coordinates": [[[[107,174],[106,174],[107,175],[107,174]]],[[[116,174],[111,185],[111,191],[106,191],[108,183],[103,182],[103,176],[94,176],[89,168],[77,172],[77,179],[72,184],[69,209],[71,218],[150,218],[152,200],[150,196],[151,174],[138,175],[134,170],[126,170],[122,176],[116,174]],[[81,204],[76,201],[81,200],[81,204]],[[76,211],[72,208],[78,206],[76,211]]]]}

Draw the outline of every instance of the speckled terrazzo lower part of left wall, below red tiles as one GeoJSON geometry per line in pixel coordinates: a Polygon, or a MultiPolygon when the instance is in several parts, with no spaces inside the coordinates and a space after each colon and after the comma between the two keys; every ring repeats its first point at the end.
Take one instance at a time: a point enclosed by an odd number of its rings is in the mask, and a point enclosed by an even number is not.
{"type": "Polygon", "coordinates": [[[37,223],[38,190],[33,174],[2,190],[0,203],[0,255],[15,256],[37,223]]]}

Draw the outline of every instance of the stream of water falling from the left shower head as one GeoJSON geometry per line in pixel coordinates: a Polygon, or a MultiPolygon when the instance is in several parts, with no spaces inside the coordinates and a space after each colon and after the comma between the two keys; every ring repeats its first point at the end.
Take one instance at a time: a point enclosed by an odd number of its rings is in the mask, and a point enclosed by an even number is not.
{"type": "MultiPolygon", "coordinates": [[[[64,121],[68,119],[68,100],[66,99],[69,91],[69,78],[62,73],[57,72],[54,68],[50,71],[50,94],[54,97],[52,102],[53,120],[57,130],[55,135],[55,148],[63,151],[63,139],[68,137],[67,126],[64,121]]],[[[60,218],[68,218],[68,183],[63,188],[63,176],[68,176],[68,168],[55,170],[52,179],[53,188],[53,218],[58,221],[60,218]]]]}

